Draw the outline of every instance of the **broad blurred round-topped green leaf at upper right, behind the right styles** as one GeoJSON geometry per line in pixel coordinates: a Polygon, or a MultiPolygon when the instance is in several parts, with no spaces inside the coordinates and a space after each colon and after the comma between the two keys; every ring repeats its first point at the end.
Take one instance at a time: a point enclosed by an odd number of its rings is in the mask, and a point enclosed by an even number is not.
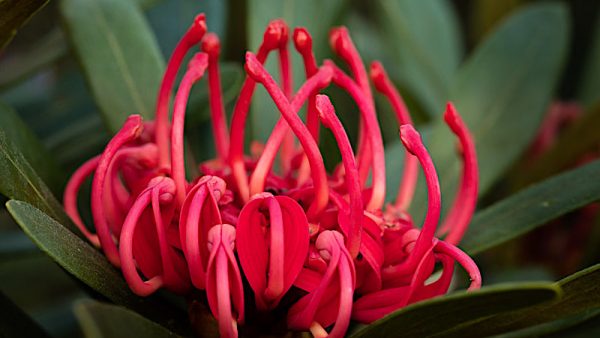
{"type": "MultiPolygon", "coordinates": [[[[531,131],[539,126],[560,75],[568,31],[562,4],[524,7],[504,21],[458,71],[450,97],[475,139],[480,196],[530,144],[531,131]]],[[[459,181],[456,138],[440,119],[428,141],[448,207],[459,181]]],[[[394,166],[390,169],[399,172],[394,166]]],[[[392,186],[397,186],[400,175],[396,176],[392,186]]],[[[426,189],[421,185],[413,214],[424,214],[425,201],[426,189]]]]}

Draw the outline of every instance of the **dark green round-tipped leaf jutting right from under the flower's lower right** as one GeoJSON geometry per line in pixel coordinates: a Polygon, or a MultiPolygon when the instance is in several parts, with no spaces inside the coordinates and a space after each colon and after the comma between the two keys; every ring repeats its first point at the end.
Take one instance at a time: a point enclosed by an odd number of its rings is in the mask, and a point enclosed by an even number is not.
{"type": "Polygon", "coordinates": [[[547,302],[560,294],[560,287],[552,283],[504,284],[457,292],[407,306],[351,337],[429,337],[470,320],[547,302]]]}

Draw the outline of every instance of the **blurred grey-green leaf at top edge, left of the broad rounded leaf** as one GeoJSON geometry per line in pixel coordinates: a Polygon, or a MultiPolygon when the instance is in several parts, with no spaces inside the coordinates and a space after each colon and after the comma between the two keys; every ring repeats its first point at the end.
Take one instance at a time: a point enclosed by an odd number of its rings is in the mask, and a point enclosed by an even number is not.
{"type": "Polygon", "coordinates": [[[448,1],[379,1],[375,25],[386,38],[391,76],[429,116],[443,112],[462,57],[458,20],[448,1]]]}

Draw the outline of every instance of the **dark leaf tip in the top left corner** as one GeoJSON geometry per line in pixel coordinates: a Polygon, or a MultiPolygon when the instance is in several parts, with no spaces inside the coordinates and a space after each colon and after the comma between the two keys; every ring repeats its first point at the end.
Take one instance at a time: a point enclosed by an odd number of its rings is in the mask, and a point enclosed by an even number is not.
{"type": "Polygon", "coordinates": [[[17,30],[47,3],[48,0],[0,1],[0,51],[10,43],[17,30]]]}

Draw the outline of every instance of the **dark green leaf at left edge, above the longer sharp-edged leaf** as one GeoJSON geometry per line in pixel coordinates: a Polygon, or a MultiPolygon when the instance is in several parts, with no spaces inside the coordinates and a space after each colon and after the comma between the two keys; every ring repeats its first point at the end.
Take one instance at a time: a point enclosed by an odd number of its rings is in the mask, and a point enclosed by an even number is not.
{"type": "Polygon", "coordinates": [[[52,191],[58,193],[64,177],[54,158],[19,115],[2,102],[0,102],[0,130],[21,151],[27,162],[36,168],[36,173],[40,175],[42,181],[52,187],[52,191]]]}

